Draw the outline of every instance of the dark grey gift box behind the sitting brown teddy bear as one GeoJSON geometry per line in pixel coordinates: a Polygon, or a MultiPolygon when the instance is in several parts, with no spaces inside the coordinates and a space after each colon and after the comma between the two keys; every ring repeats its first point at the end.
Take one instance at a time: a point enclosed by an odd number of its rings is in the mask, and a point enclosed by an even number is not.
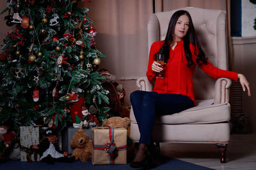
{"type": "MultiPolygon", "coordinates": [[[[72,141],[72,138],[74,134],[77,132],[77,128],[74,127],[67,127],[62,132],[62,150],[68,153],[72,153],[74,150],[70,146],[70,141],[72,141]]],[[[87,128],[83,129],[84,132],[88,135],[89,139],[92,139],[92,129],[87,128]]]]}

